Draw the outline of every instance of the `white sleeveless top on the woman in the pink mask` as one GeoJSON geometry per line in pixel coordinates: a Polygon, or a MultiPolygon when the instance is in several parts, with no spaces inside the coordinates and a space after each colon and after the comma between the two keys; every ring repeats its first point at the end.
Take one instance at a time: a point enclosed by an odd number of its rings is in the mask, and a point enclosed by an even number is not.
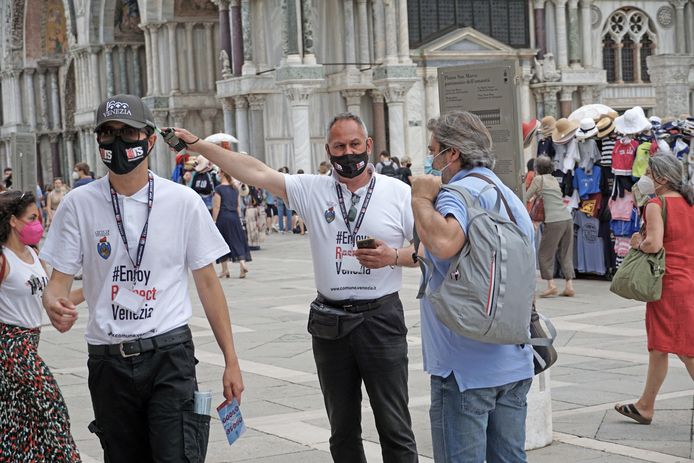
{"type": "Polygon", "coordinates": [[[11,249],[4,248],[2,252],[10,271],[0,284],[0,322],[23,328],[41,326],[41,296],[48,283],[46,271],[31,248],[33,264],[24,262],[11,249]]]}

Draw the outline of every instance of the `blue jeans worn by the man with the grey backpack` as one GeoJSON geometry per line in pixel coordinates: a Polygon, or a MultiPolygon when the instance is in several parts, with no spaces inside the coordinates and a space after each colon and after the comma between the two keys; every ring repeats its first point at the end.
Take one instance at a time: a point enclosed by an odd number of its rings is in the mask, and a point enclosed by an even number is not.
{"type": "Polygon", "coordinates": [[[434,461],[525,462],[526,397],[532,378],[460,392],[455,375],[431,377],[434,461]]]}

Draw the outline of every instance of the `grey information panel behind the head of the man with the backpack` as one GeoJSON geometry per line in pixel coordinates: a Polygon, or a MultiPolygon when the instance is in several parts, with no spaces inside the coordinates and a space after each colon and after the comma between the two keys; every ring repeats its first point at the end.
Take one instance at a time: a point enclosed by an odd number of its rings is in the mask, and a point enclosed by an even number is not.
{"type": "Polygon", "coordinates": [[[441,114],[463,110],[476,114],[492,136],[494,172],[519,196],[521,140],[520,68],[513,60],[438,68],[441,114]]]}

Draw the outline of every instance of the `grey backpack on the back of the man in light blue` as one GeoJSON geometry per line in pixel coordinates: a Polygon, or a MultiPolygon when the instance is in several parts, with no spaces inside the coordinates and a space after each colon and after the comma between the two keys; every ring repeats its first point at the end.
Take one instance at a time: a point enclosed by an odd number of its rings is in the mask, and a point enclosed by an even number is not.
{"type": "Polygon", "coordinates": [[[433,291],[427,291],[433,265],[419,257],[423,278],[417,298],[426,294],[441,323],[467,338],[494,344],[549,346],[555,331],[548,321],[551,337],[531,339],[530,335],[535,295],[532,243],[516,224],[501,190],[482,175],[470,176],[490,183],[477,198],[463,186],[442,186],[442,190],[460,196],[467,209],[465,245],[451,262],[441,286],[433,291]],[[489,189],[497,192],[494,210],[480,204],[480,197],[489,189]],[[496,212],[501,210],[501,202],[510,220],[496,212]]]}

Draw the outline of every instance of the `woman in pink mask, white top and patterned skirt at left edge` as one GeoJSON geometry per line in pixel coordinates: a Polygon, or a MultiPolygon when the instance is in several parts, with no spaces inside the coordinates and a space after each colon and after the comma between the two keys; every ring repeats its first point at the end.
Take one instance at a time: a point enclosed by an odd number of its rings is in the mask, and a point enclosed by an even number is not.
{"type": "MultiPolygon", "coordinates": [[[[65,401],[37,352],[48,283],[34,251],[42,235],[34,195],[0,193],[0,461],[80,461],[65,401]]],[[[81,290],[70,299],[81,302],[81,290]]]]}

